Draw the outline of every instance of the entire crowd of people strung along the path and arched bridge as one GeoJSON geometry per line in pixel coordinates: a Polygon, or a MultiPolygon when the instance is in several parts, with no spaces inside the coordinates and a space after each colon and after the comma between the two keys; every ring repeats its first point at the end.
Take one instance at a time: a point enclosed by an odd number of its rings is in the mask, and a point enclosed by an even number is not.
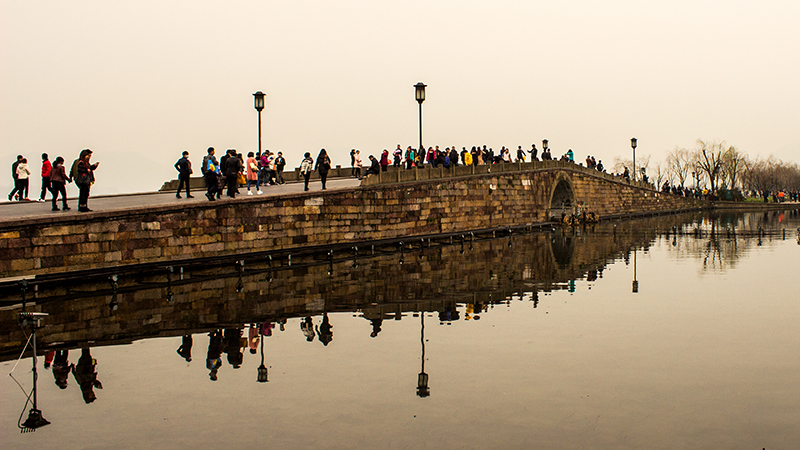
{"type": "MultiPolygon", "coordinates": [[[[63,157],[58,156],[51,163],[49,156],[43,153],[41,163],[42,183],[38,201],[44,202],[47,192],[50,192],[52,194],[53,211],[69,210],[66,186],[68,183],[74,182],[79,189],[78,211],[91,211],[88,207],[89,192],[95,181],[95,170],[99,165],[99,163],[92,163],[91,157],[91,150],[82,150],[78,159],[73,161],[69,171],[67,171],[63,157]],[[61,198],[61,208],[58,207],[59,197],[61,198]]],[[[423,147],[423,151],[408,146],[404,151],[400,144],[397,144],[397,148],[391,153],[384,149],[378,157],[369,155],[367,158],[368,165],[365,169],[361,151],[358,149],[350,151],[351,176],[359,179],[386,172],[389,166],[407,170],[425,166],[450,169],[450,167],[458,165],[526,162],[528,158],[530,158],[530,161],[539,161],[539,158],[542,161],[554,159],[552,149],[545,147],[539,154],[536,144],[532,144],[531,148],[527,150],[520,145],[514,152],[505,146],[495,152],[491,147],[487,148],[486,145],[472,146],[469,150],[466,147],[461,147],[460,151],[456,146],[440,149],[437,145],[428,147],[427,150],[424,150],[423,147]]],[[[558,160],[574,163],[574,158],[574,152],[569,149],[558,157],[558,160]]],[[[603,161],[596,160],[592,155],[586,157],[585,163],[585,167],[589,169],[606,173],[603,161]]],[[[583,163],[580,165],[583,166],[583,163]]],[[[201,165],[201,172],[206,183],[206,197],[209,201],[214,201],[221,198],[223,192],[225,192],[228,197],[236,198],[236,195],[240,193],[240,186],[246,186],[247,195],[261,195],[264,193],[262,190],[264,187],[286,184],[283,176],[285,168],[286,159],[282,152],[273,153],[269,150],[261,153],[249,152],[245,157],[234,149],[228,149],[222,157],[217,159],[216,150],[214,147],[209,147],[201,165]]],[[[190,178],[194,172],[188,151],[184,151],[181,158],[175,163],[175,169],[178,171],[179,180],[176,197],[182,198],[181,191],[185,191],[187,198],[194,198],[191,195],[190,187],[190,178]]],[[[322,189],[327,189],[327,178],[330,170],[331,158],[324,148],[320,150],[316,159],[311,156],[311,153],[306,152],[300,162],[299,170],[300,175],[303,177],[304,190],[309,190],[309,181],[311,174],[314,172],[319,176],[322,189]]],[[[647,182],[648,178],[645,169],[641,168],[641,171],[640,179],[647,182]]],[[[29,190],[30,178],[33,172],[27,158],[23,155],[18,155],[17,160],[11,166],[11,174],[14,179],[14,189],[8,194],[8,200],[32,201],[29,198],[29,190]]],[[[622,173],[615,175],[630,182],[631,174],[627,167],[624,167],[622,173]]],[[[700,189],[670,186],[669,182],[665,182],[660,186],[660,189],[664,193],[684,197],[708,198],[714,195],[714,193],[703,193],[700,189]]],[[[776,202],[797,198],[792,193],[786,194],[780,191],[776,192],[774,197],[776,202]]]]}

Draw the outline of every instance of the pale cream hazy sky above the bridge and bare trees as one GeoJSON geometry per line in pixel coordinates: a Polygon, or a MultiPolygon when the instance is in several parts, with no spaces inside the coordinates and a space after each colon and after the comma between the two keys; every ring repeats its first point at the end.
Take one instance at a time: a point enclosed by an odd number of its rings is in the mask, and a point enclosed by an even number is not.
{"type": "Polygon", "coordinates": [[[0,187],[17,154],[38,172],[91,148],[93,193],[155,190],[183,150],[197,173],[208,146],[257,150],[258,90],[264,148],[346,166],[416,146],[418,81],[426,146],[547,138],[611,166],[632,136],[654,162],[700,138],[800,162],[798,19],[796,0],[0,0],[0,187]]]}

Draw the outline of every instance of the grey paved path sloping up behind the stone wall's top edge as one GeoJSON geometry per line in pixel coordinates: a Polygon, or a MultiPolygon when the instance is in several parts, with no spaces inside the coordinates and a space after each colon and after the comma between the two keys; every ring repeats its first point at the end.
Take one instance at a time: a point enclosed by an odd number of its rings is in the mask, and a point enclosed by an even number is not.
{"type": "MultiPolygon", "coordinates": [[[[360,181],[355,178],[337,178],[328,180],[328,190],[340,190],[358,187],[360,181]]],[[[324,192],[320,190],[319,181],[312,181],[309,185],[311,192],[324,192]]],[[[281,186],[266,186],[262,187],[263,194],[261,197],[269,197],[280,194],[293,194],[303,192],[303,183],[287,183],[281,186]]],[[[252,198],[247,195],[247,189],[242,187],[239,189],[240,194],[236,199],[252,198]]],[[[253,192],[255,196],[255,192],[253,192]]],[[[183,195],[183,194],[182,194],[183,195]]],[[[182,199],[175,198],[174,192],[146,192],[141,194],[120,194],[120,195],[103,195],[97,197],[89,197],[89,208],[93,211],[112,211],[112,210],[127,210],[135,209],[142,206],[153,205],[167,205],[167,204],[186,204],[186,203],[208,203],[205,196],[205,190],[193,191],[192,195],[195,198],[187,199],[185,196],[182,199]]],[[[36,217],[52,217],[54,215],[78,216],[81,213],[78,210],[77,197],[70,197],[67,203],[72,208],[70,211],[52,211],[52,197],[47,196],[47,201],[41,202],[2,202],[0,203],[0,223],[13,222],[18,219],[33,219],[36,217]]],[[[222,202],[236,201],[231,200],[227,196],[222,196],[222,202]]],[[[58,207],[61,207],[61,200],[58,201],[58,207]]]]}

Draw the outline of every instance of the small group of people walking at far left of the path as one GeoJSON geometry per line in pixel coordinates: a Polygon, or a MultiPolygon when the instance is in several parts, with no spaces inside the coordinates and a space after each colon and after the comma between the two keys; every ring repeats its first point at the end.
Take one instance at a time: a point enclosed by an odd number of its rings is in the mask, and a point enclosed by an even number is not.
{"type": "MultiPolygon", "coordinates": [[[[78,159],[72,162],[69,173],[64,166],[64,158],[61,156],[51,163],[47,153],[42,153],[42,190],[38,201],[44,202],[47,192],[52,195],[53,211],[68,211],[71,208],[67,205],[67,183],[75,183],[78,186],[78,211],[90,212],[89,191],[94,184],[94,172],[100,163],[92,163],[92,151],[81,150],[78,159]],[[61,208],[58,207],[58,197],[61,196],[61,208]]],[[[11,176],[14,179],[14,189],[8,194],[8,201],[32,201],[29,198],[30,178],[32,172],[28,165],[28,159],[22,155],[17,155],[17,160],[11,164],[11,176]]]]}

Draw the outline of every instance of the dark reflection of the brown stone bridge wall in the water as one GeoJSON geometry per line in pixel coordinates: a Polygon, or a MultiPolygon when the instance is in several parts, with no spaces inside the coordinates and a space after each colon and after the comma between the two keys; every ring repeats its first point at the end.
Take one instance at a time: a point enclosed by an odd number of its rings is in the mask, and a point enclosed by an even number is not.
{"type": "MultiPolygon", "coordinates": [[[[568,289],[602,276],[611,261],[647,247],[661,230],[692,219],[669,216],[579,229],[494,238],[422,241],[391,252],[362,249],[172,272],[121,275],[116,281],[41,285],[36,305],[47,312],[43,348],[75,348],[180,336],[247,323],[279,322],[322,313],[360,311],[399,319],[430,311],[458,318],[458,304],[483,306],[568,289]],[[455,313],[455,314],[454,314],[455,313]]],[[[30,300],[31,292],[28,293],[30,300]]],[[[21,298],[6,299],[19,301],[21,298]]],[[[24,335],[18,309],[0,311],[0,360],[16,356],[24,335]]]]}

